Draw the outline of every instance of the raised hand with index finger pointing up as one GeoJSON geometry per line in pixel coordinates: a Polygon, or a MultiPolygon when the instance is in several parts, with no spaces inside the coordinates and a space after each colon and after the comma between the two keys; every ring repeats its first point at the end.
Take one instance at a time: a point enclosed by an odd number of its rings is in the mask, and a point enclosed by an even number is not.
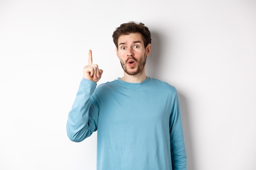
{"type": "Polygon", "coordinates": [[[92,64],[92,51],[89,50],[88,65],[83,68],[83,78],[97,83],[102,73],[103,70],[100,70],[97,64],[92,64]]]}

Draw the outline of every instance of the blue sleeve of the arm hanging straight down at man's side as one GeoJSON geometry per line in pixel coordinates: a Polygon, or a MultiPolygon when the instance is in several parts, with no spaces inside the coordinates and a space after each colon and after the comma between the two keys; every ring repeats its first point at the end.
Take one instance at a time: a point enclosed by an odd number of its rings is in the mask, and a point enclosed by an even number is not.
{"type": "Polygon", "coordinates": [[[186,148],[180,114],[180,102],[177,91],[170,116],[171,162],[173,170],[187,170],[186,148]]]}

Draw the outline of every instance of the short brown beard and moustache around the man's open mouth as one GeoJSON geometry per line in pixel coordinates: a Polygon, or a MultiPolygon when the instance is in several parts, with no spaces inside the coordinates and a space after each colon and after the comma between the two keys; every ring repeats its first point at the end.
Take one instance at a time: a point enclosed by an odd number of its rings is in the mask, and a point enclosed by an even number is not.
{"type": "MultiPolygon", "coordinates": [[[[123,62],[122,60],[120,60],[120,63],[121,63],[121,66],[122,66],[124,72],[126,72],[128,75],[137,75],[137,74],[139,74],[139,73],[143,70],[143,68],[144,68],[144,66],[145,66],[145,64],[146,64],[146,60],[147,60],[147,57],[146,57],[146,54],[145,54],[144,57],[141,58],[141,60],[139,60],[139,62],[138,62],[137,59],[135,59],[134,57],[131,56],[131,57],[128,57],[125,62],[123,62]],[[132,68],[131,71],[129,71],[129,70],[127,69],[127,62],[128,62],[128,60],[130,60],[130,59],[135,60],[135,62],[137,63],[137,68],[136,68],[135,70],[133,70],[133,68],[132,68]]],[[[136,67],[136,66],[135,66],[135,67],[136,67]]]]}

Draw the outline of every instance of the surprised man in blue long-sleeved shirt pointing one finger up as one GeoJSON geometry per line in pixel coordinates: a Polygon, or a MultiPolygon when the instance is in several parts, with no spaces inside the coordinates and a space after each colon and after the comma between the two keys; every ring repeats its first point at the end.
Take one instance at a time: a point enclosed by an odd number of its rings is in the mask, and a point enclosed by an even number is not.
{"type": "Polygon", "coordinates": [[[177,91],[146,76],[148,27],[124,23],[112,37],[124,77],[96,88],[103,71],[92,64],[89,50],[67,120],[68,137],[80,142],[98,130],[97,170],[186,170],[177,91]]]}

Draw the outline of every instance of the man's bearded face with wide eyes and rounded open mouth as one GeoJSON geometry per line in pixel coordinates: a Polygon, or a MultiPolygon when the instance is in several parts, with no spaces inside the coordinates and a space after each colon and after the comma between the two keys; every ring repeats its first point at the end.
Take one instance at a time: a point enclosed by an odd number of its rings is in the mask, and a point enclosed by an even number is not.
{"type": "Polygon", "coordinates": [[[120,35],[118,38],[117,57],[124,72],[128,75],[137,75],[145,71],[146,58],[150,54],[151,44],[144,47],[142,35],[140,33],[130,33],[120,35]]]}

